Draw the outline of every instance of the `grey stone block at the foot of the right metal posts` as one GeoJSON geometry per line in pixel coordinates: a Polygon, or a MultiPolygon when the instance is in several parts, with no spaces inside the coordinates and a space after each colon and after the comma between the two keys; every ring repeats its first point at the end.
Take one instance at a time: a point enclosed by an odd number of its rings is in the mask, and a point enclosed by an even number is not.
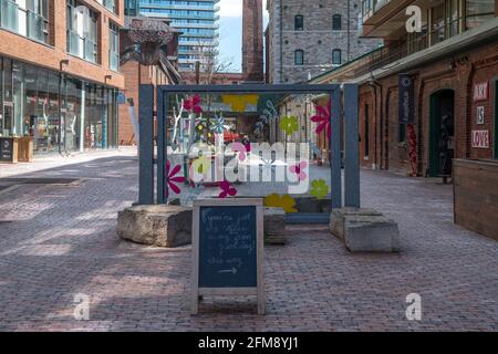
{"type": "Polygon", "coordinates": [[[332,211],[331,232],[351,252],[397,252],[397,223],[373,209],[343,208],[332,211]]]}

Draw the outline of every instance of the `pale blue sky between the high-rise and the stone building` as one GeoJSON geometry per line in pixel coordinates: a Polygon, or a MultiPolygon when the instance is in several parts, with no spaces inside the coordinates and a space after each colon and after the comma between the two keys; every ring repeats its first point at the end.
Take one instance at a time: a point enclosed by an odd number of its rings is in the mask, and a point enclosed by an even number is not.
{"type": "MultiPolygon", "coordinates": [[[[240,72],[242,70],[242,0],[220,0],[219,6],[220,60],[232,63],[230,71],[240,72]]],[[[266,8],[267,1],[263,0],[264,25],[268,21],[266,8]]]]}

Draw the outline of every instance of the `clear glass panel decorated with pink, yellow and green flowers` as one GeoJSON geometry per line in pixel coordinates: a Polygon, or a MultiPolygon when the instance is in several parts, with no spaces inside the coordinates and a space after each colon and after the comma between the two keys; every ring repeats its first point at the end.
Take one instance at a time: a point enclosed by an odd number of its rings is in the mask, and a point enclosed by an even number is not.
{"type": "Polygon", "coordinates": [[[288,214],[330,212],[329,95],[191,93],[167,102],[169,201],[262,197],[288,214]]]}

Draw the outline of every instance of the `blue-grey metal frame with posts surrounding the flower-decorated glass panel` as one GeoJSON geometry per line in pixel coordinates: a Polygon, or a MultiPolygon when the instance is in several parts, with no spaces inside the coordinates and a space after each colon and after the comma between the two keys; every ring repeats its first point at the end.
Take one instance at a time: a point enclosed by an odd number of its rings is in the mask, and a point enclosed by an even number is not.
{"type": "MultiPolygon", "coordinates": [[[[154,159],[154,87],[139,87],[139,198],[141,205],[166,202],[166,159],[168,94],[329,94],[332,100],[331,112],[331,207],[360,207],[360,160],[359,160],[359,117],[357,85],[160,85],[157,86],[157,159],[154,159]],[[342,88],[342,90],[341,90],[342,88]],[[342,198],[341,132],[344,134],[344,201],[342,198]],[[157,164],[157,178],[154,165],[157,164]],[[156,198],[154,189],[156,187],[156,198]]],[[[289,222],[328,222],[328,215],[297,214],[288,216],[289,222]]]]}

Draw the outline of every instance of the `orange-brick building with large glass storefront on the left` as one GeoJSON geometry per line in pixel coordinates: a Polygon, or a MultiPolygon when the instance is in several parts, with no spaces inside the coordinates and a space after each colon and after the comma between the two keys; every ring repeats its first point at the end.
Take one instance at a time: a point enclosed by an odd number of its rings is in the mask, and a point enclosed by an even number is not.
{"type": "Polygon", "coordinates": [[[0,136],[31,139],[34,154],[116,146],[123,0],[2,0],[1,9],[0,136]]]}

